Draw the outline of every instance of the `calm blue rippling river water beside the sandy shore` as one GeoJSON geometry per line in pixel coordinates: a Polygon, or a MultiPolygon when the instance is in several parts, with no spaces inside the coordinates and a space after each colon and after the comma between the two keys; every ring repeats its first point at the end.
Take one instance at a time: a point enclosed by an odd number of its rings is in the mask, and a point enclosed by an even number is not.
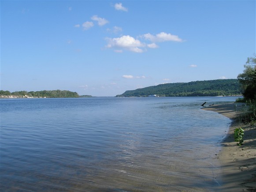
{"type": "Polygon", "coordinates": [[[214,191],[235,97],[1,99],[3,191],[214,191]]]}

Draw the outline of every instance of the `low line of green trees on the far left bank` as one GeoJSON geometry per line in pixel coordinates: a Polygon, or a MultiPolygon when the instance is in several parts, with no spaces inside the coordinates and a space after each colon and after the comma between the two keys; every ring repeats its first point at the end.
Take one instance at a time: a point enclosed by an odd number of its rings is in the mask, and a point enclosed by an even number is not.
{"type": "Polygon", "coordinates": [[[3,91],[0,90],[0,95],[13,95],[13,96],[30,96],[30,97],[79,97],[77,92],[71,92],[71,91],[61,91],[61,90],[52,90],[52,91],[16,91],[16,92],[9,92],[9,91],[3,91]]]}

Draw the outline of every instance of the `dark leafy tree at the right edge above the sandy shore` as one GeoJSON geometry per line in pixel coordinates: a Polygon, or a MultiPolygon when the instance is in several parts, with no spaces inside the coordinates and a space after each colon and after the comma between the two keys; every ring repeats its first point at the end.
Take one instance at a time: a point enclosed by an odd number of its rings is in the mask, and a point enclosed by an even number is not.
{"type": "Polygon", "coordinates": [[[247,62],[244,67],[244,73],[239,74],[237,79],[242,85],[245,99],[254,100],[256,99],[256,55],[254,57],[247,58],[247,62]]]}

